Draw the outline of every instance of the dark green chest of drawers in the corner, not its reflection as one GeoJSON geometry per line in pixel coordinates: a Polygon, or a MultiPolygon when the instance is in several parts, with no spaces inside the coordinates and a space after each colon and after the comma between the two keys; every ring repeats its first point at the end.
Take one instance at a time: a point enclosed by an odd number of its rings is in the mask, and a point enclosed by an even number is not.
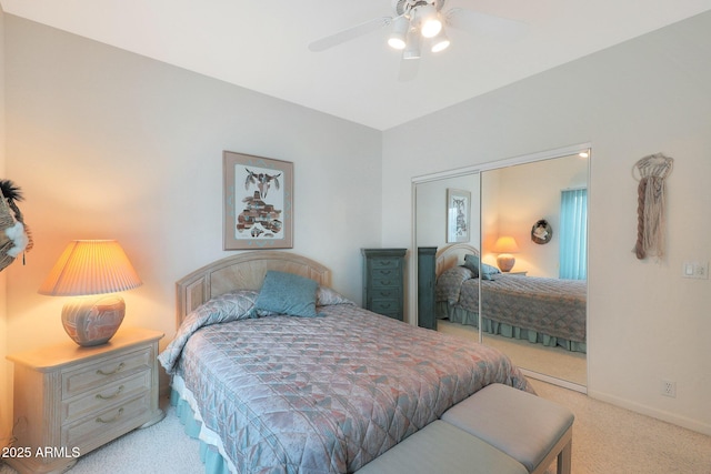
{"type": "Polygon", "coordinates": [[[362,249],[363,306],[403,320],[405,249],[362,249]]]}

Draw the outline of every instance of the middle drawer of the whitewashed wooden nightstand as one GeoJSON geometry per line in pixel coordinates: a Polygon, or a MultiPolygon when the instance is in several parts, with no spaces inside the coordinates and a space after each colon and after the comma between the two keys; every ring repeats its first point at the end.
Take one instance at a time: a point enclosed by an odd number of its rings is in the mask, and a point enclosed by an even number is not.
{"type": "Polygon", "coordinates": [[[151,371],[143,371],[128,379],[122,379],[92,390],[86,395],[76,396],[62,402],[62,420],[73,422],[82,416],[99,412],[111,405],[121,404],[129,399],[147,392],[151,387],[151,371]]]}

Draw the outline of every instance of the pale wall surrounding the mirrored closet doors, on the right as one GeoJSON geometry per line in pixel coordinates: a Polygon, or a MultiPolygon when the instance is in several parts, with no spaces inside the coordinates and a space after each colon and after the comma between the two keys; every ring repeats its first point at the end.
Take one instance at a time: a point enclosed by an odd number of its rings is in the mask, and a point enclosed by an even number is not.
{"type": "MultiPolygon", "coordinates": [[[[711,260],[710,57],[705,13],[388,130],[382,199],[389,215],[410,177],[591,142],[589,394],[708,434],[711,282],[681,268],[711,260]],[[657,152],[675,159],[668,252],[639,261],[631,170],[657,152]]],[[[383,245],[409,243],[409,224],[383,219],[383,245]]]]}

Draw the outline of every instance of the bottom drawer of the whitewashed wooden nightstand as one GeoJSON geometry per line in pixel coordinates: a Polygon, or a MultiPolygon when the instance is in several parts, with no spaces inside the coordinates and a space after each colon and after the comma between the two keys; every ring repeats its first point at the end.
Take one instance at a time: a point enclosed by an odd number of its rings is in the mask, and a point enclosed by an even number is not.
{"type": "Polygon", "coordinates": [[[150,410],[151,393],[146,392],[122,404],[101,410],[74,424],[67,425],[62,428],[61,445],[89,448],[94,444],[101,445],[126,433],[127,427],[134,428],[143,424],[150,410]]]}

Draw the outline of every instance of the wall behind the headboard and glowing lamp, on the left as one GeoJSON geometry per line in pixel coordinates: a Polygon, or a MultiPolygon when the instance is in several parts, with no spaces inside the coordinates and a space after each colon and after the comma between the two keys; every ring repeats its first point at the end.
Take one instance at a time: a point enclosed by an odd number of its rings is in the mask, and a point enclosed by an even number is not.
{"type": "Polygon", "coordinates": [[[174,282],[233,253],[223,150],[294,163],[293,251],[360,302],[359,249],[381,243],[379,131],[12,16],[4,51],[7,171],[34,231],[8,271],[7,351],[69,341],[64,299],[37,289],[68,241],[93,238],[119,240],[143,280],[123,324],[163,331],[164,346],[174,282]]]}

